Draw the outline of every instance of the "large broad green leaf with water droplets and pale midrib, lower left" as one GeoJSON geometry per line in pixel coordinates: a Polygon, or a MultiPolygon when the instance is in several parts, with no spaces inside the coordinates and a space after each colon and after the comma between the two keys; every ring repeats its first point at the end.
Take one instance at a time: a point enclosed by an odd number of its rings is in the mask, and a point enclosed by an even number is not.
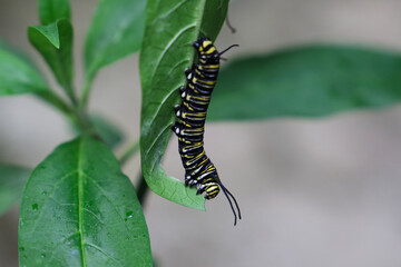
{"type": "Polygon", "coordinates": [[[151,266],[135,189],[109,148],[59,146],[30,176],[19,222],[20,266],[151,266]]]}

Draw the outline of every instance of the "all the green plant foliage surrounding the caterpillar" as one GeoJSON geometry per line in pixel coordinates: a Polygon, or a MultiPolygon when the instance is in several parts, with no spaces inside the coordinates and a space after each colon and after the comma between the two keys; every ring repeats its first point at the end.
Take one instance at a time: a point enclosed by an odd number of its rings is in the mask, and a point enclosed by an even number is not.
{"type": "MultiPolygon", "coordinates": [[[[137,51],[143,175],[159,196],[204,209],[204,198],[169,177],[160,160],[175,120],[173,107],[179,101],[177,89],[195,60],[190,42],[198,36],[215,40],[227,6],[228,0],[100,0],[85,43],[85,82],[77,90],[69,1],[39,0],[41,24],[30,26],[28,38],[67,98],[49,86],[27,56],[0,42],[0,96],[31,93],[78,130],[29,179],[29,169],[0,165],[0,212],[22,199],[21,266],[153,265],[138,200],[146,187],[135,190],[120,170],[138,142],[133,141],[118,161],[111,149],[123,140],[123,132],[106,118],[90,116],[87,108],[99,70],[137,51]]],[[[222,70],[208,119],[319,117],[388,107],[401,98],[400,77],[401,56],[375,49],[332,44],[254,55],[234,59],[222,70]]]]}

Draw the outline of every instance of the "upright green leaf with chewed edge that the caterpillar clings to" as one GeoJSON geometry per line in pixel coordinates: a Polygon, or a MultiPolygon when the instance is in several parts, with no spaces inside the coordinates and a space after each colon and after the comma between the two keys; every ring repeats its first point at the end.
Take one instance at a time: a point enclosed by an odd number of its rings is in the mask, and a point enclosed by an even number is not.
{"type": "Polygon", "coordinates": [[[159,196],[187,207],[204,209],[196,196],[160,166],[175,121],[174,105],[178,88],[186,82],[184,70],[194,61],[190,43],[198,36],[215,39],[227,12],[227,0],[156,1],[148,0],[146,29],[140,52],[143,109],[140,155],[149,188],[159,196]]]}

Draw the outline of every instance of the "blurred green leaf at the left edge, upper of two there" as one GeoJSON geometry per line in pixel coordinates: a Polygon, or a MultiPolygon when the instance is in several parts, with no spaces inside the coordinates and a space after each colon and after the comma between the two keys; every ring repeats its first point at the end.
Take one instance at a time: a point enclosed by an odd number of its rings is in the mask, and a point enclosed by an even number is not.
{"type": "Polygon", "coordinates": [[[48,90],[37,67],[25,55],[0,40],[0,96],[48,90]]]}

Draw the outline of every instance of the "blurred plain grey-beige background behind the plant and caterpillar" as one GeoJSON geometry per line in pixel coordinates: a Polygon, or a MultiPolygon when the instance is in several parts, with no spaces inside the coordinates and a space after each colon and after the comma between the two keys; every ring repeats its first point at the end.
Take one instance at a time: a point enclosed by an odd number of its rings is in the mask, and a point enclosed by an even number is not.
{"type": "MultiPolygon", "coordinates": [[[[81,50],[97,1],[71,0],[77,86],[81,50]]],[[[401,49],[399,0],[250,0],[229,9],[218,48],[239,43],[229,59],[311,42],[401,49]]],[[[37,1],[0,0],[0,36],[29,52],[27,27],[37,1]]],[[[288,77],[291,79],[291,77],[288,77]]],[[[53,82],[53,81],[51,81],[53,82]]],[[[53,82],[55,83],[55,82],[53,82]]],[[[100,71],[90,108],[139,137],[138,57],[100,71]]],[[[282,118],[208,123],[206,150],[243,220],[233,227],[224,196],[192,210],[150,192],[145,205],[158,266],[394,267],[401,266],[401,107],[321,119],[282,118]]],[[[72,138],[66,120],[31,96],[0,98],[0,161],[35,167],[72,138]]],[[[176,139],[168,174],[184,175],[176,139]]],[[[125,172],[136,181],[139,157],[125,172]]],[[[0,266],[18,266],[18,207],[0,217],[0,266]]]]}

